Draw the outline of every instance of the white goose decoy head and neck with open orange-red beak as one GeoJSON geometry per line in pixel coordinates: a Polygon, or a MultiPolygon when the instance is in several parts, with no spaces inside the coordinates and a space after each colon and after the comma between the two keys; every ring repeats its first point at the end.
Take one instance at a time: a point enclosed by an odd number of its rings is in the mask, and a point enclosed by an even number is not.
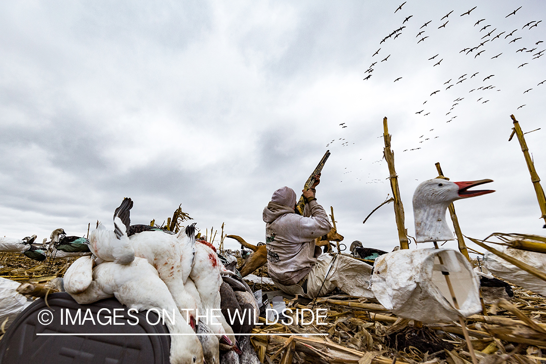
{"type": "Polygon", "coordinates": [[[435,178],[419,184],[413,194],[416,241],[423,243],[454,240],[453,232],[446,223],[447,207],[455,200],[495,192],[490,189],[469,190],[471,187],[489,182],[493,181],[451,182],[435,178]]]}

